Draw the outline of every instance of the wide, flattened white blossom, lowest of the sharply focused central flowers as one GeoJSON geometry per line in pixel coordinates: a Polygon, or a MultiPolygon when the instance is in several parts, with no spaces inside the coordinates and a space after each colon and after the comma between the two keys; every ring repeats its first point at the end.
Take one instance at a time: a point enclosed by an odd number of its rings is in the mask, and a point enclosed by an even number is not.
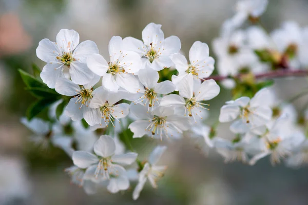
{"type": "Polygon", "coordinates": [[[132,122],[129,129],[133,132],[133,138],[144,135],[166,138],[178,137],[180,133],[188,130],[188,117],[175,114],[174,107],[159,106],[148,112],[148,108],[140,104],[132,105],[130,111],[139,120],[132,122]]]}

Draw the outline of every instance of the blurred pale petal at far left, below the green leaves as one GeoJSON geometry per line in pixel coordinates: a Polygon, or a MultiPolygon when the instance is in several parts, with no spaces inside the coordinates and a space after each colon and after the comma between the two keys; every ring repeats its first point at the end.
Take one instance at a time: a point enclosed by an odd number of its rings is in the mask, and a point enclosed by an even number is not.
{"type": "Polygon", "coordinates": [[[48,134],[49,130],[49,123],[45,122],[40,118],[33,118],[31,121],[28,121],[26,118],[22,118],[21,122],[24,126],[30,129],[32,132],[36,134],[45,135],[48,134]]]}

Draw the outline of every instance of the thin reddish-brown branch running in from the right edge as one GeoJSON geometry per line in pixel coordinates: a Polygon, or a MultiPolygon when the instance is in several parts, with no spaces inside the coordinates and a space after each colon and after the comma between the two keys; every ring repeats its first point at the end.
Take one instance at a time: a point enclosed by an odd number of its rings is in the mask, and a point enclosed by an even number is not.
{"type": "MultiPolygon", "coordinates": [[[[214,79],[216,81],[221,81],[227,78],[238,78],[240,79],[241,76],[244,76],[245,74],[238,74],[235,76],[221,76],[221,75],[216,75],[216,76],[210,76],[207,78],[204,78],[204,80],[208,79],[214,79]]],[[[270,71],[266,73],[261,73],[261,74],[256,74],[255,78],[256,79],[261,79],[261,78],[278,78],[278,77],[291,77],[291,76],[307,76],[308,75],[308,70],[276,70],[276,71],[270,71]]]]}

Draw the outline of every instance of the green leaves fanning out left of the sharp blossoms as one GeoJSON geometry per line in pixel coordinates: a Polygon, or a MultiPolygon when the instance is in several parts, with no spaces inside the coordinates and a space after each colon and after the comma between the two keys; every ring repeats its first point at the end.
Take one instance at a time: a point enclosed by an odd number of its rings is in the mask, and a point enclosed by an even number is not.
{"type": "MultiPolygon", "coordinates": [[[[33,72],[39,76],[39,68],[34,64],[32,65],[32,68],[33,72]]],[[[25,90],[28,90],[34,97],[37,98],[37,100],[32,103],[26,111],[28,120],[31,120],[33,117],[48,108],[55,101],[61,99],[62,96],[58,94],[54,89],[48,88],[48,86],[46,86],[41,79],[37,79],[33,75],[30,75],[21,69],[18,69],[18,71],[20,72],[21,77],[26,84],[25,90]]],[[[65,100],[64,102],[67,103],[65,100]]],[[[65,105],[61,106],[63,108],[65,107],[65,105]]],[[[63,108],[59,108],[58,113],[62,113],[63,108]]]]}

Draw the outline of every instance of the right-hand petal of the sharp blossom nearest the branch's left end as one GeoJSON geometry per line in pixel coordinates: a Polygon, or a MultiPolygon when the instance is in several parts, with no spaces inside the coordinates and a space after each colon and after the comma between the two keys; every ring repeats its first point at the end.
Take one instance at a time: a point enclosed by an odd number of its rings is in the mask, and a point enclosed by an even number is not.
{"type": "Polygon", "coordinates": [[[215,80],[205,80],[199,90],[195,93],[195,99],[197,101],[209,100],[216,97],[220,92],[220,87],[217,85],[215,80]]]}

